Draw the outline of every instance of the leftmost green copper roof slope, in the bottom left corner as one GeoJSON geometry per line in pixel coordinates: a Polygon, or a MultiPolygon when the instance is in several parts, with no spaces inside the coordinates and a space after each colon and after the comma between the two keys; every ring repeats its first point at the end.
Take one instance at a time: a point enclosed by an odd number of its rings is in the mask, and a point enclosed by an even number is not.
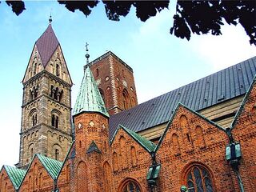
{"type": "Polygon", "coordinates": [[[18,190],[18,187],[21,185],[22,179],[26,174],[26,170],[18,169],[13,166],[4,166],[4,168],[10,178],[10,181],[13,183],[15,190],[18,190]]]}

